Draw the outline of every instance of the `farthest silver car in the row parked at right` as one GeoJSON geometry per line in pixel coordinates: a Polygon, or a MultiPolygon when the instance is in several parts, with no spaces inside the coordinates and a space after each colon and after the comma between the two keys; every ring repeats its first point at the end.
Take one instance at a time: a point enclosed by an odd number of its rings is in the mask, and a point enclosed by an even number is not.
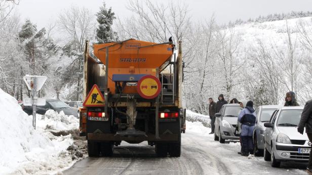
{"type": "Polygon", "coordinates": [[[224,143],[226,139],[238,140],[239,135],[235,133],[238,115],[240,113],[239,104],[224,104],[220,113],[216,113],[214,140],[224,143]]]}

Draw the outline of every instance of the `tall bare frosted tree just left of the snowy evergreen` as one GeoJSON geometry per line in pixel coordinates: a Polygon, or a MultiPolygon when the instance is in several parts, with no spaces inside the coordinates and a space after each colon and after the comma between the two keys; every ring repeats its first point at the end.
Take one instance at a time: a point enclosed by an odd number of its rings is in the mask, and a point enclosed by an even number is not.
{"type": "Polygon", "coordinates": [[[70,100],[82,99],[82,81],[85,41],[95,37],[94,16],[86,8],[72,6],[59,15],[58,26],[63,32],[62,61],[70,61],[62,74],[63,86],[74,89],[69,95],[70,100]]]}

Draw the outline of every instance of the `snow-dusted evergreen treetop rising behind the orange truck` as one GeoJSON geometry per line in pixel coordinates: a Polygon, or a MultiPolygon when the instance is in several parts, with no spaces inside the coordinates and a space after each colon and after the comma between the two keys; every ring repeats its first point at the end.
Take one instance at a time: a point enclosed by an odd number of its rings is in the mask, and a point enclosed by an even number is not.
{"type": "Polygon", "coordinates": [[[96,14],[97,22],[99,23],[96,29],[96,39],[98,43],[106,43],[112,40],[117,40],[117,33],[112,31],[112,22],[115,18],[115,13],[111,8],[106,9],[105,3],[100,7],[100,11],[96,14]]]}

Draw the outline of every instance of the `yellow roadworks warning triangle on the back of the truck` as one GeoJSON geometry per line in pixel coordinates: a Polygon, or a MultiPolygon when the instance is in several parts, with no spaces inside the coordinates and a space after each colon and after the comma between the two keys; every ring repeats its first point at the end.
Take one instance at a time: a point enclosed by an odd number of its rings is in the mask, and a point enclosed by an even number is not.
{"type": "Polygon", "coordinates": [[[104,97],[101,93],[99,87],[95,84],[90,90],[87,98],[84,101],[83,106],[86,107],[96,107],[96,106],[104,106],[104,97]]]}

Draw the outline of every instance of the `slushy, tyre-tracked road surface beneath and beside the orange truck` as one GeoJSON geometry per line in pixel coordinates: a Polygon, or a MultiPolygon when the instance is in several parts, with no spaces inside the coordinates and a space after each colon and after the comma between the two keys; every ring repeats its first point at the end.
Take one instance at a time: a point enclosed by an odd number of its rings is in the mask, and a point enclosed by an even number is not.
{"type": "Polygon", "coordinates": [[[240,144],[220,144],[208,135],[210,128],[200,122],[187,122],[182,134],[182,152],[178,158],[159,158],[154,147],[143,142],[122,142],[113,157],[86,158],[76,162],[64,174],[306,174],[304,163],[282,163],[273,168],[263,157],[243,157],[240,144]]]}

